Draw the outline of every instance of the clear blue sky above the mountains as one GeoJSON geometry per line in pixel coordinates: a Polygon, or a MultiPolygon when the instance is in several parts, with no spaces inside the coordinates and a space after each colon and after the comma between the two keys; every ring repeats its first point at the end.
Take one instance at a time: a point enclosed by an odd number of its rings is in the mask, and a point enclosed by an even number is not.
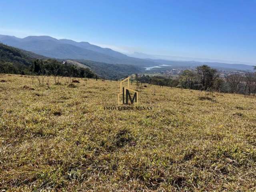
{"type": "Polygon", "coordinates": [[[256,63],[256,0],[4,0],[0,34],[256,63]]]}

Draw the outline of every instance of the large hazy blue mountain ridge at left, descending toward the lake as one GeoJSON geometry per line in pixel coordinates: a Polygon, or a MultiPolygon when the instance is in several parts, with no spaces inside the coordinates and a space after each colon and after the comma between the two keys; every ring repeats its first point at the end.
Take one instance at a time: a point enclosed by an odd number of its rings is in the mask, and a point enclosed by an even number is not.
{"type": "Polygon", "coordinates": [[[51,58],[85,59],[109,64],[131,64],[145,67],[157,65],[154,61],[129,57],[112,49],[101,48],[88,42],[75,42],[68,39],[58,40],[50,36],[17,38],[0,35],[0,42],[51,58]]]}

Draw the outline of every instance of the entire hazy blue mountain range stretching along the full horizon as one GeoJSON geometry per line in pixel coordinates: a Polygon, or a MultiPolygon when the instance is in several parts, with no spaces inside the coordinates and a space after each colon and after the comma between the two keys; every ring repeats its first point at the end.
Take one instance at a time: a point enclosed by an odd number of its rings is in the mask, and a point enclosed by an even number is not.
{"type": "MultiPolygon", "coordinates": [[[[127,56],[110,48],[102,48],[88,42],[75,42],[68,39],[56,39],[50,36],[15,36],[0,35],[0,42],[50,58],[70,60],[90,60],[106,64],[129,64],[137,67],[151,67],[170,65],[175,67],[195,67],[202,64],[227,70],[253,70],[253,66],[246,64],[228,64],[225,62],[204,62],[203,60],[187,60],[189,58],[148,55],[137,53],[127,56]]],[[[206,60],[207,61],[207,60],[206,60]]]]}

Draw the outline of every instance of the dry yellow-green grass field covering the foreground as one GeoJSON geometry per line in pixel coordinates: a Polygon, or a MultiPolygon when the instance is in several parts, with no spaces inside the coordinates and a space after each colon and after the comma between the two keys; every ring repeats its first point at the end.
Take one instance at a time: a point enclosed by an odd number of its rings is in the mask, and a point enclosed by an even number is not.
{"type": "Polygon", "coordinates": [[[256,98],[144,84],[152,110],[104,110],[119,82],[1,80],[0,191],[256,191],[256,98]]]}

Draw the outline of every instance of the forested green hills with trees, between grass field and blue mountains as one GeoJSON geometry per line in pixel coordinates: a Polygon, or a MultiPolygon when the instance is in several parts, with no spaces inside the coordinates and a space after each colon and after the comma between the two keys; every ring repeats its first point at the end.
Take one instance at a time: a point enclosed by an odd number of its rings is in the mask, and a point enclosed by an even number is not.
{"type": "Polygon", "coordinates": [[[56,71],[57,68],[62,69],[58,70],[59,75],[81,76],[81,74],[85,74],[88,77],[98,76],[99,78],[106,79],[120,79],[144,70],[144,68],[134,65],[107,64],[90,60],[63,61],[60,59],[50,59],[0,43],[0,73],[38,74],[40,72],[45,74],[50,72],[54,74],[54,70],[56,71]],[[72,69],[70,66],[72,66],[72,69]]]}

